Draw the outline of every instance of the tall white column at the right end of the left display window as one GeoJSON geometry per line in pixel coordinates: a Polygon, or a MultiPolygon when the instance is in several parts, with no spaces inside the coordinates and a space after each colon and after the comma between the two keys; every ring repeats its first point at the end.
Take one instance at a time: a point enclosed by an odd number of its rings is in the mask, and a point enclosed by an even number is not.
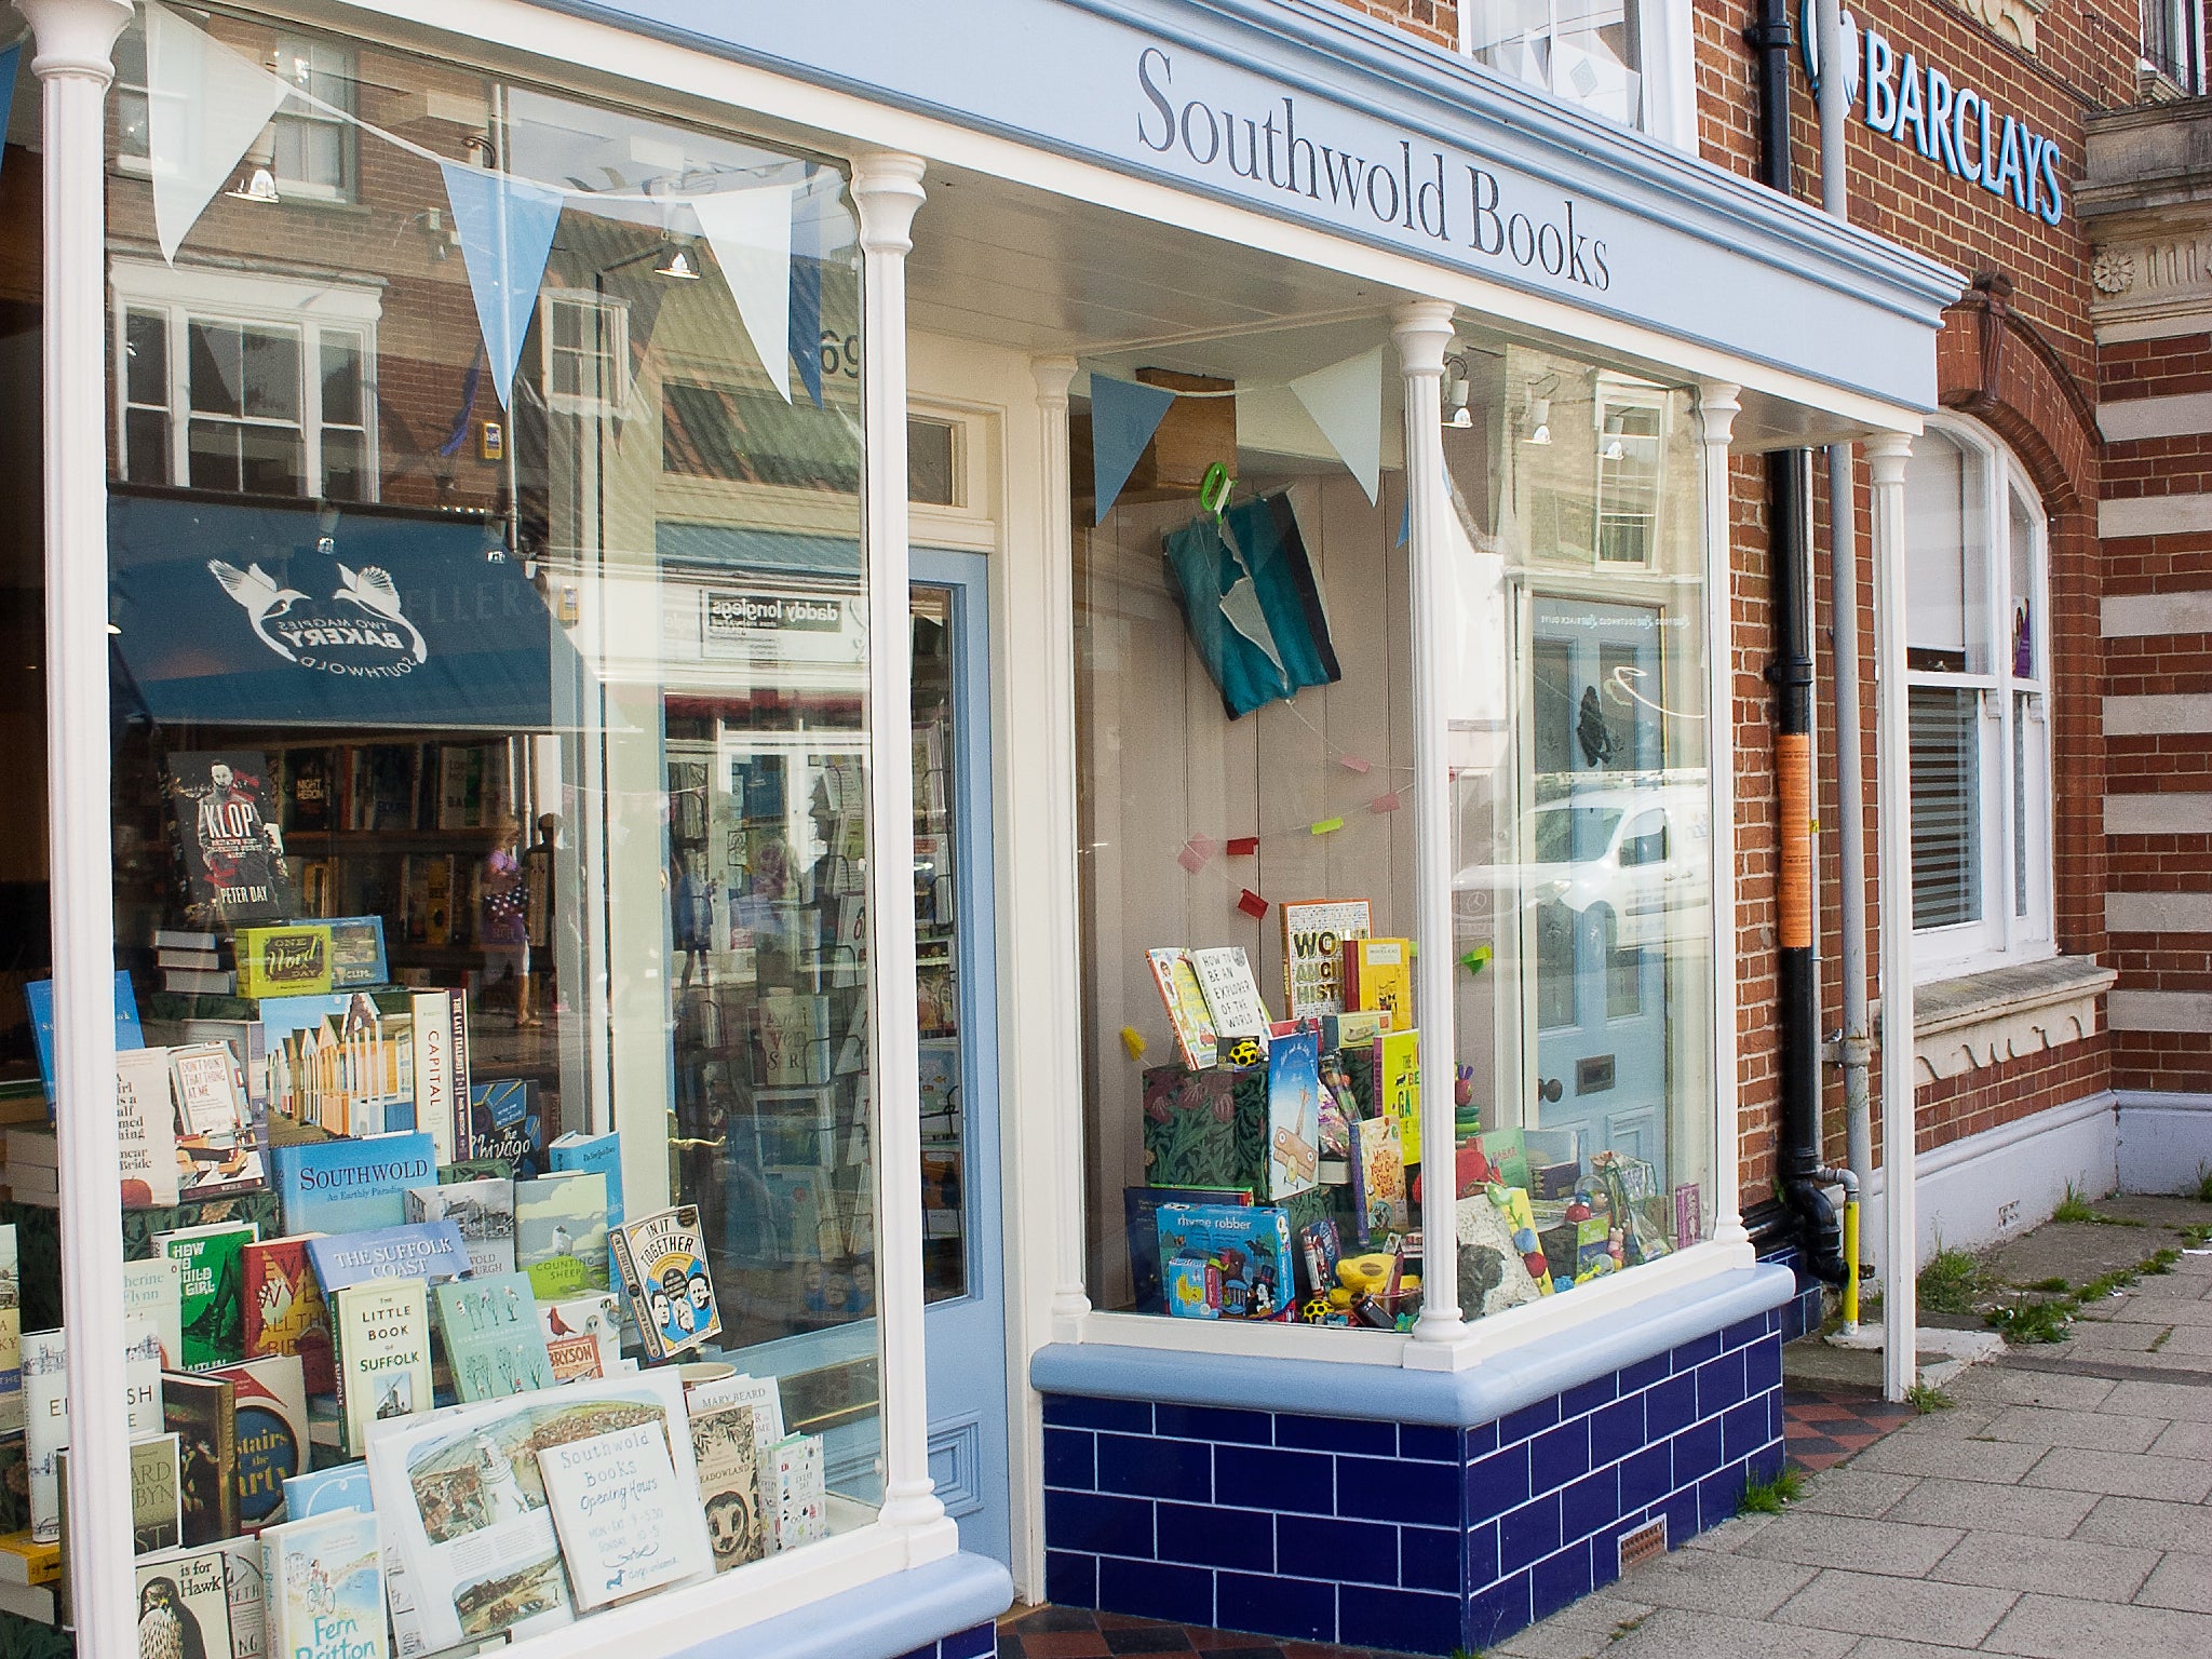
{"type": "Polygon", "coordinates": [[[907,588],[907,252],[922,206],[918,155],[865,155],[860,210],[863,453],[867,546],[869,911],[876,991],[876,1276],[883,1321],[883,1522],[945,1522],[929,1480],[922,1365],[922,1091],[914,995],[914,608],[907,588]]]}

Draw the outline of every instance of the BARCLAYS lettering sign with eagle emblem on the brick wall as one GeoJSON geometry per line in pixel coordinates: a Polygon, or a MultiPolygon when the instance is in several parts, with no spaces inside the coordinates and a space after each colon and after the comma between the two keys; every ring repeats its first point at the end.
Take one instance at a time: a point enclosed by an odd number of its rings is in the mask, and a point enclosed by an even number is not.
{"type": "MultiPolygon", "coordinates": [[[[2059,221],[2059,146],[1986,93],[1953,82],[1936,64],[1900,53],[1880,29],[1860,29],[1849,11],[1843,24],[1843,97],[1869,128],[1909,144],[1944,173],[1978,184],[1989,195],[2059,221]]],[[[1798,0],[1798,44],[1805,77],[1820,91],[1820,38],[1814,0],[1798,0]]]]}

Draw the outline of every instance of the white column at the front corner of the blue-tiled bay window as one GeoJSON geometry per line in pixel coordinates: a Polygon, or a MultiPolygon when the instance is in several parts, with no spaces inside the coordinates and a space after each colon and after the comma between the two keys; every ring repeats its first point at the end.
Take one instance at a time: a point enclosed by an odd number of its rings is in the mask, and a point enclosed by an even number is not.
{"type": "MultiPolygon", "coordinates": [[[[1451,661],[1453,584],[1444,571],[1451,542],[1444,515],[1444,352],[1451,305],[1416,299],[1391,325],[1405,374],[1407,566],[1413,599],[1413,1006],[1420,1011],[1420,1166],[1422,1261],[1416,1352],[1455,1343],[1460,1323],[1458,1166],[1453,1159],[1451,1029],[1451,732],[1442,703],[1451,661]]],[[[1413,1360],[1418,1363],[1418,1360],[1413,1360]]]]}

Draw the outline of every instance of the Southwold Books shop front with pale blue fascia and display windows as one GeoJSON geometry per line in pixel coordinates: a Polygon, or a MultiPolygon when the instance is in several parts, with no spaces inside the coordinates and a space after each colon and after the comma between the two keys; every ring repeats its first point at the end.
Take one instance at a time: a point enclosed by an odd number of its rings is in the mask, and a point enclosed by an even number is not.
{"type": "Polygon", "coordinates": [[[49,1626],[1451,1652],[1772,1471],[1730,456],[1949,272],[1321,4],[20,9],[49,1626]]]}

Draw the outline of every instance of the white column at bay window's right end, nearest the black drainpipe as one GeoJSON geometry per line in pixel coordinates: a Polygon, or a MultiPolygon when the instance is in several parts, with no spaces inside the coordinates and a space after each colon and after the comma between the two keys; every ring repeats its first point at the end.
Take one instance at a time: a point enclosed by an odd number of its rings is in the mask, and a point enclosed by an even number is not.
{"type": "Polygon", "coordinates": [[[1697,420],[1705,445],[1705,770],[1712,774],[1712,1241],[1750,1254],[1736,1068],[1736,637],[1728,500],[1739,392],[1725,380],[1701,385],[1697,420]]]}

